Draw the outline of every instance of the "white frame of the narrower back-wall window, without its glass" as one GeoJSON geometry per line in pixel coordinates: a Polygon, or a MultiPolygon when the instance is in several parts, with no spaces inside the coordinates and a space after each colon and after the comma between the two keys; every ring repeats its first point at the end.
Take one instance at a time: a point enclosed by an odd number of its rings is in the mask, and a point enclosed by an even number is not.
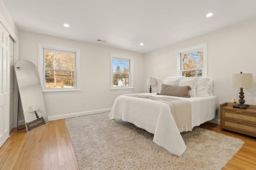
{"type": "Polygon", "coordinates": [[[133,57],[110,54],[110,91],[134,90],[133,82],[134,82],[133,81],[133,57]],[[122,86],[122,87],[113,86],[113,59],[130,61],[129,86],[122,86]]]}

